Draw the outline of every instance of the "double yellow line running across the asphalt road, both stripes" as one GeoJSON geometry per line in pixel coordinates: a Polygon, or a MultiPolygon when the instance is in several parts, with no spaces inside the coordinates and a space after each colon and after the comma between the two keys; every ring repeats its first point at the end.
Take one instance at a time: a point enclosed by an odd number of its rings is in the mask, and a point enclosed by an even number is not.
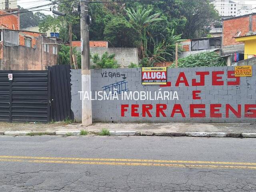
{"type": "Polygon", "coordinates": [[[87,165],[121,165],[121,166],[160,166],[180,168],[212,168],[212,169],[252,169],[256,163],[250,162],[214,162],[214,161],[178,161],[178,160],[146,160],[116,158],[72,158],[72,157],[32,157],[32,156],[0,156],[0,162],[30,162],[55,164],[87,164],[87,165]]]}

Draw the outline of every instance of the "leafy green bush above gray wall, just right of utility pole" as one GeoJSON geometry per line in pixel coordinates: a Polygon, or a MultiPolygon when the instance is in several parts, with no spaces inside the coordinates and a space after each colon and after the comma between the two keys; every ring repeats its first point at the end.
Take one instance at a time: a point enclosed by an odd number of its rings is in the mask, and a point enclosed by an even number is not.
{"type": "Polygon", "coordinates": [[[117,64],[115,60],[115,54],[108,55],[108,52],[105,52],[100,58],[98,54],[92,56],[92,62],[94,65],[91,65],[91,68],[119,68],[120,65],[117,64]]]}

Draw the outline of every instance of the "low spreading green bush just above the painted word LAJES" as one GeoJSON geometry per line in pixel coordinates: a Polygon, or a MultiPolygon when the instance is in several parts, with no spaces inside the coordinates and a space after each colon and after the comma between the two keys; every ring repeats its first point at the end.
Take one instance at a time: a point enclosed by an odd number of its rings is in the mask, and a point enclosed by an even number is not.
{"type": "MultiPolygon", "coordinates": [[[[225,66],[226,62],[216,52],[202,52],[178,59],[178,67],[225,66]]],[[[172,64],[170,68],[175,68],[172,64]]]]}

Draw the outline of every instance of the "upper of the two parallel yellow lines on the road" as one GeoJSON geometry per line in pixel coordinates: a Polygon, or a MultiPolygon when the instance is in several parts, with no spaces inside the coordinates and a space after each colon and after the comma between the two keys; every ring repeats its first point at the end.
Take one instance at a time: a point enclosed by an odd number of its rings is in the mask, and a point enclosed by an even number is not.
{"type": "Polygon", "coordinates": [[[224,165],[256,166],[256,163],[248,163],[248,162],[178,161],[178,160],[115,159],[115,158],[68,158],[68,157],[32,157],[32,156],[0,156],[0,158],[38,159],[38,160],[73,160],[73,161],[115,161],[115,162],[224,164],[224,165]]]}

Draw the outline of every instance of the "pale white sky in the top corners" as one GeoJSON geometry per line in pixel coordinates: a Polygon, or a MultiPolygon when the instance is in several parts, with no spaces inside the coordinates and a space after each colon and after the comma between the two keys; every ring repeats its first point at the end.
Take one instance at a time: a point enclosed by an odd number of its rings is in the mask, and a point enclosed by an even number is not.
{"type": "MultiPolygon", "coordinates": [[[[256,7],[256,0],[245,0],[246,4],[252,4],[252,7],[256,7]]],[[[17,3],[19,6],[23,8],[32,8],[40,5],[45,5],[50,3],[49,0],[17,0],[17,3]]],[[[50,6],[42,7],[42,8],[50,8],[50,6]]],[[[42,8],[37,8],[37,9],[42,9],[42,8]]],[[[36,10],[36,9],[35,9],[36,10]]],[[[44,14],[52,14],[50,11],[40,11],[43,12],[44,14]]]]}

